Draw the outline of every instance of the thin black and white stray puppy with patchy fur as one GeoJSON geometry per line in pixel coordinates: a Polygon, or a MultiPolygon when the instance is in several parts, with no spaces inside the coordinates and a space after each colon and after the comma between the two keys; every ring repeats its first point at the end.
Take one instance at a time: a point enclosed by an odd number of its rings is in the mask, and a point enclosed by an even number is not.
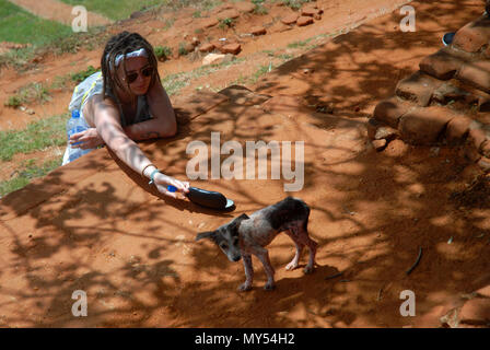
{"type": "Polygon", "coordinates": [[[245,283],[240,285],[240,291],[252,289],[254,279],[252,254],[254,254],[262,262],[267,275],[265,289],[272,290],[275,288],[275,270],[270,265],[269,253],[265,246],[272,242],[280,232],[285,232],[296,245],[296,254],[285,269],[298,268],[301,252],[306,245],[310,249],[310,260],[304,268],[304,272],[313,271],[318,244],[308,236],[308,217],[310,208],[304,201],[287,197],[276,205],[254,212],[250,217],[242,214],[215,231],[198,233],[196,241],[211,240],[223,250],[230,261],[238,261],[243,257],[246,280],[245,283]]]}

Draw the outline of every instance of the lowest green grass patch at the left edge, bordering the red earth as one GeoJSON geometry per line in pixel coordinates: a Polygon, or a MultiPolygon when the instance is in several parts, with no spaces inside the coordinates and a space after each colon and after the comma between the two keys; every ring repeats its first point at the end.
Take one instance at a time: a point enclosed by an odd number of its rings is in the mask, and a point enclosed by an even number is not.
{"type": "Polygon", "coordinates": [[[36,166],[34,160],[28,160],[22,165],[22,170],[12,179],[0,182],[0,197],[4,197],[22,187],[28,185],[33,178],[46,176],[48,173],[60,166],[62,156],[44,162],[36,166]]]}

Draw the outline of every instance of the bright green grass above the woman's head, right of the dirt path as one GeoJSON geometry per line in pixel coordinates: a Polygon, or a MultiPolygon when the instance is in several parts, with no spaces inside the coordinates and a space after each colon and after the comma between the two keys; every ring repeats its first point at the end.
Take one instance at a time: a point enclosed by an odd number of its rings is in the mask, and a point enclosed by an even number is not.
{"type": "Polygon", "coordinates": [[[118,21],[125,20],[136,11],[144,11],[162,4],[161,0],[61,0],[72,5],[84,5],[88,11],[96,12],[118,21]]]}

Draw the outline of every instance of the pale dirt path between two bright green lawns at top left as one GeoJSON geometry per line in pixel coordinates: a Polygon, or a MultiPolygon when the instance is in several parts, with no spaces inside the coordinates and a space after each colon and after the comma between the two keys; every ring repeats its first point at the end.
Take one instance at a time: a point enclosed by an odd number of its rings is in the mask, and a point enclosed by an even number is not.
{"type": "MultiPolygon", "coordinates": [[[[69,5],[61,1],[56,0],[9,0],[15,3],[18,7],[38,15],[42,19],[60,22],[66,25],[70,25],[73,22],[75,15],[71,13],[73,5],[69,5]]],[[[78,15],[79,13],[77,13],[78,15]]],[[[112,21],[102,14],[95,12],[88,12],[88,26],[107,25],[112,21]]]]}

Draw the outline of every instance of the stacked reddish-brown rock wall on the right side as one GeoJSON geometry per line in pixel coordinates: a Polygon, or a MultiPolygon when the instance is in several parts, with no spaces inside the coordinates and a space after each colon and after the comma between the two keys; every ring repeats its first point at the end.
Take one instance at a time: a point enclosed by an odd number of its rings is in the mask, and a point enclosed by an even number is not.
{"type": "Polygon", "coordinates": [[[396,138],[415,145],[463,145],[462,154],[490,173],[489,43],[489,15],[463,26],[450,46],[423,58],[420,70],[377,104],[370,138],[386,140],[386,149],[396,138]],[[395,138],[377,131],[386,127],[397,130],[395,138]]]}

